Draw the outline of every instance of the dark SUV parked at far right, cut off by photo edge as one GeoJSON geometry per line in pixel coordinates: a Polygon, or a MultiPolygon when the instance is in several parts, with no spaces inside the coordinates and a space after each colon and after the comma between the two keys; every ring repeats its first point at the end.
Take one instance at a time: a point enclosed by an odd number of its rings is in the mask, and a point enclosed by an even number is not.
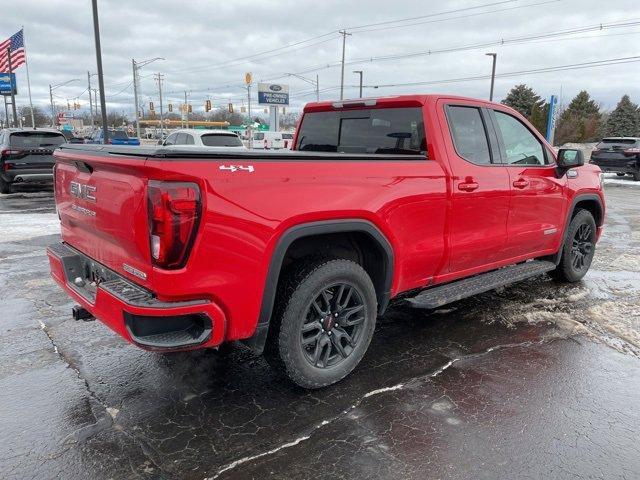
{"type": "Polygon", "coordinates": [[[603,138],[591,152],[591,161],[603,172],[615,172],[623,177],[633,175],[640,181],[640,138],[610,137],[603,138]]]}

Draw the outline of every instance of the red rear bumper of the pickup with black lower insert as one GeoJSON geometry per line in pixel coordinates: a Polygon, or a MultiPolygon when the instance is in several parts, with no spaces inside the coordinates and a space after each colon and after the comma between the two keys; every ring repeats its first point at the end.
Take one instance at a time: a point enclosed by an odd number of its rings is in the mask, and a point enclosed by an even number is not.
{"type": "Polygon", "coordinates": [[[160,301],[65,243],[50,245],[47,255],[58,285],[130,343],[175,351],[215,347],[224,340],[225,315],[210,300],[160,301]]]}

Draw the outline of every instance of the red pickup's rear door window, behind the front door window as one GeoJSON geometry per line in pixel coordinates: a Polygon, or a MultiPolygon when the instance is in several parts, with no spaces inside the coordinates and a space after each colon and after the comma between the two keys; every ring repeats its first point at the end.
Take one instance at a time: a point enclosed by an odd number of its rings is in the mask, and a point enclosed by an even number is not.
{"type": "Polygon", "coordinates": [[[447,108],[449,130],[456,152],[476,165],[491,163],[487,130],[476,107],[449,106],[447,108]]]}

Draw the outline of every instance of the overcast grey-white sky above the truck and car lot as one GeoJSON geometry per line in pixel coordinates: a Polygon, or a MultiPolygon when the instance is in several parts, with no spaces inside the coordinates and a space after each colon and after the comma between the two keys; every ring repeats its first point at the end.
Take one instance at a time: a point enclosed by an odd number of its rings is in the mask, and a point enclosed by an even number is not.
{"type": "MultiPolygon", "coordinates": [[[[166,59],[141,70],[146,104],[158,101],[151,76],[156,72],[165,75],[165,102],[179,103],[187,90],[196,110],[203,109],[206,98],[214,107],[226,105],[229,99],[240,105],[246,98],[247,71],[253,73],[254,81],[289,83],[293,109],[313,101],[315,93],[312,85],[284,76],[287,72],[305,72],[302,75],[314,80],[317,74],[321,99],[339,98],[342,37],[337,31],[343,28],[353,33],[347,37],[347,98],[358,96],[353,70],[364,71],[364,96],[443,92],[486,98],[488,78],[398,85],[488,76],[491,60],[486,52],[498,54],[498,75],[627,57],[640,60],[640,0],[100,0],[99,13],[107,103],[127,112],[133,111],[132,58],[166,59]],[[612,23],[632,25],[606,28],[612,23]],[[605,28],[509,42],[598,24],[605,28]],[[365,60],[501,39],[504,45],[365,60]],[[393,86],[372,88],[375,85],[393,86]]],[[[77,78],[80,81],[54,91],[55,101],[66,104],[67,98],[80,95],[81,103],[87,105],[83,92],[87,70],[96,71],[90,1],[6,2],[0,14],[0,37],[8,37],[21,25],[34,104],[48,107],[48,85],[77,78]]],[[[19,68],[17,75],[17,101],[25,104],[25,68],[19,68]]],[[[96,80],[92,77],[97,87],[96,80]]],[[[586,89],[604,108],[612,108],[625,93],[640,102],[640,62],[498,77],[495,98],[504,98],[516,83],[526,83],[544,97],[562,94],[565,104],[586,89]]]]}

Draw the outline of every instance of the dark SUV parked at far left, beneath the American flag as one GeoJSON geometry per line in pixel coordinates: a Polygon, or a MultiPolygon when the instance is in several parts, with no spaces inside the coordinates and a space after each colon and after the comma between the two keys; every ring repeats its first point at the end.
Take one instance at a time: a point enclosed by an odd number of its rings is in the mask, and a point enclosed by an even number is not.
{"type": "Polygon", "coordinates": [[[51,182],[53,150],[65,142],[54,129],[0,130],[0,193],[10,193],[13,183],[51,182]]]}

